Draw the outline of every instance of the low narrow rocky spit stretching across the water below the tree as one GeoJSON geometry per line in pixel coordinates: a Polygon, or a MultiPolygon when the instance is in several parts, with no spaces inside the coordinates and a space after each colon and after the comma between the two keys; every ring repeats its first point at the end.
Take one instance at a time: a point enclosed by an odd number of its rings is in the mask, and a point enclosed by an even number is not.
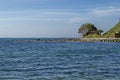
{"type": "Polygon", "coordinates": [[[63,38],[16,40],[17,42],[120,42],[120,38],[63,38]]]}

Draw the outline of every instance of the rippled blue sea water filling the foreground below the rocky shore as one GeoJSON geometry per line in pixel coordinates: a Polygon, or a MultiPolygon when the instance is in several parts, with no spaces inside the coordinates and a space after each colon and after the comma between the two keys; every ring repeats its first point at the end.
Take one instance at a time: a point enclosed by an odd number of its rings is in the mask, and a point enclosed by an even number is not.
{"type": "Polygon", "coordinates": [[[2,40],[0,80],[120,80],[120,43],[2,40]]]}

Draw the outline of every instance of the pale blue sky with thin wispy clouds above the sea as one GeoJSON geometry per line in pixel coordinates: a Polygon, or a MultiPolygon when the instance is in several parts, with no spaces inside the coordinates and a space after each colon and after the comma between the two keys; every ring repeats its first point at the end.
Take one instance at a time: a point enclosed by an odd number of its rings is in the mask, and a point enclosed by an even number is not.
{"type": "Polygon", "coordinates": [[[82,24],[104,32],[119,22],[120,0],[0,0],[0,38],[76,38],[82,24]]]}

